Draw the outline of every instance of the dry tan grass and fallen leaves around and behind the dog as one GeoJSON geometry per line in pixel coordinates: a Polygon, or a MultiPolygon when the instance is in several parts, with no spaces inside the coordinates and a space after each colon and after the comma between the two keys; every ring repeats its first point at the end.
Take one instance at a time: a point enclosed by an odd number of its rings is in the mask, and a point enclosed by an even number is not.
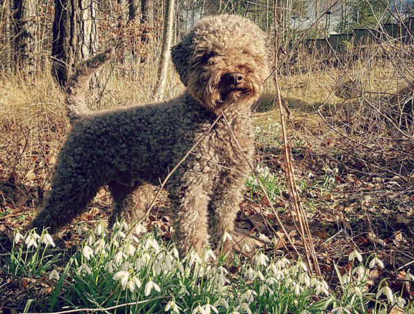
{"type": "MultiPolygon", "coordinates": [[[[282,63],[278,78],[288,101],[296,180],[322,271],[331,274],[333,262],[347,267],[347,255],[357,246],[386,261],[384,274],[373,273],[373,282],[390,277],[395,290],[401,286],[402,271],[414,260],[412,53],[412,46],[386,41],[329,55],[303,48],[282,63]]],[[[99,88],[88,95],[90,108],[152,101],[156,84],[152,59],[130,67],[110,63],[99,77],[99,88]]],[[[6,71],[0,77],[0,244],[6,247],[6,235],[41,208],[69,130],[63,93],[48,73],[46,65],[35,79],[6,71]]],[[[183,88],[172,69],[169,77],[165,98],[183,88]]],[[[295,214],[286,210],[291,199],[283,175],[274,94],[269,79],[268,94],[255,108],[257,164],[269,168],[264,181],[276,175],[265,187],[273,190],[273,202],[300,248],[295,214]]],[[[275,216],[260,190],[252,182],[247,185],[237,227],[263,245],[280,231],[270,228],[277,226],[275,216]]],[[[105,219],[109,201],[103,190],[82,219],[105,219]]],[[[161,227],[168,239],[168,203],[156,207],[148,227],[161,227]]],[[[282,244],[279,250],[289,253],[282,244]]],[[[410,285],[405,289],[409,299],[410,285]]]]}

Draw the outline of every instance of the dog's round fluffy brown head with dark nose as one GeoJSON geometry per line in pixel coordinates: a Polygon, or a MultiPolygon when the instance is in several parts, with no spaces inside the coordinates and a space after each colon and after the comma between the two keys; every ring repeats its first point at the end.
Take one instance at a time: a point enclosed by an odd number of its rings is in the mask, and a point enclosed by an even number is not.
{"type": "Polygon", "coordinates": [[[201,105],[216,114],[229,104],[253,103],[269,75],[267,36],[236,15],[206,17],[172,48],[172,61],[201,105]]]}

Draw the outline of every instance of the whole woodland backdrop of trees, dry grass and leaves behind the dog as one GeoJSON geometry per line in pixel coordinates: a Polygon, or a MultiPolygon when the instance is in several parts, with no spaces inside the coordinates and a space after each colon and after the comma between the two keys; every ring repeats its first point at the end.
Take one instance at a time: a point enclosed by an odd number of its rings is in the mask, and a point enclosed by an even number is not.
{"type": "MultiPolygon", "coordinates": [[[[219,13],[248,17],[276,40],[295,180],[327,281],[333,263],[349,267],[356,247],[386,263],[371,284],[386,277],[412,300],[411,285],[402,285],[414,261],[414,13],[405,0],[0,0],[0,251],[8,252],[12,230],[36,215],[50,188],[70,129],[63,88],[77,63],[117,48],[92,80],[92,110],[168,99],[183,90],[170,46],[219,13]],[[366,41],[352,35],[359,29],[366,41]],[[335,34],[350,35],[332,47],[335,34]]],[[[237,230],[262,247],[277,233],[284,239],[277,254],[289,253],[290,237],[303,253],[273,79],[266,85],[254,108],[258,178],[246,180],[237,230]]],[[[81,220],[106,219],[108,211],[103,189],[81,220]]],[[[146,227],[170,239],[169,215],[161,198],[146,227]]]]}

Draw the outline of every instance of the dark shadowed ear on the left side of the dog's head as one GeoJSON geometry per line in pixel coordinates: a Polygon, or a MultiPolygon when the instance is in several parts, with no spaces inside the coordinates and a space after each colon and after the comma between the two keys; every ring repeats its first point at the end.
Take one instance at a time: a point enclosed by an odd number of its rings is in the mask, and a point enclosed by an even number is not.
{"type": "Polygon", "coordinates": [[[190,67],[190,58],[193,55],[193,44],[194,32],[190,32],[181,39],[177,45],[171,48],[172,63],[174,63],[175,70],[177,70],[181,81],[187,86],[188,81],[188,68],[190,67]]]}

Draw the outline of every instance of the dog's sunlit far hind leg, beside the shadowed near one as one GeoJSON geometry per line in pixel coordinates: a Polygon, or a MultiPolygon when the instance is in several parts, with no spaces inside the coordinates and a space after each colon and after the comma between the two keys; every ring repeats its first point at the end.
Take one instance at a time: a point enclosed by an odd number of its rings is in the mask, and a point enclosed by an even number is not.
{"type": "Polygon", "coordinates": [[[111,182],[109,188],[114,199],[114,209],[109,218],[110,226],[121,218],[124,218],[128,225],[135,219],[141,219],[154,197],[154,186],[141,181],[132,186],[111,182]]]}

